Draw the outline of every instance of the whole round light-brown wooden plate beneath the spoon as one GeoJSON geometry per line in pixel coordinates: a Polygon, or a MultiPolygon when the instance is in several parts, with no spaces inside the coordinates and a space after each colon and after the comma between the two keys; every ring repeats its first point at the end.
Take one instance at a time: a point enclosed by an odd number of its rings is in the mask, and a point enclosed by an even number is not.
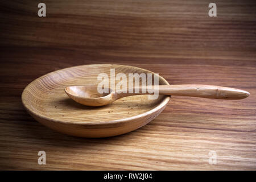
{"type": "MultiPolygon", "coordinates": [[[[154,73],[137,67],[116,64],[93,64],[60,69],[32,81],[22,93],[24,107],[36,121],[77,137],[110,137],[136,130],[154,119],[170,101],[170,96],[148,100],[147,95],[130,96],[111,105],[89,107],[77,104],[65,94],[71,85],[98,84],[97,76],[110,68],[117,73],[154,73]]],[[[168,85],[159,76],[159,85],[168,85]]]]}

